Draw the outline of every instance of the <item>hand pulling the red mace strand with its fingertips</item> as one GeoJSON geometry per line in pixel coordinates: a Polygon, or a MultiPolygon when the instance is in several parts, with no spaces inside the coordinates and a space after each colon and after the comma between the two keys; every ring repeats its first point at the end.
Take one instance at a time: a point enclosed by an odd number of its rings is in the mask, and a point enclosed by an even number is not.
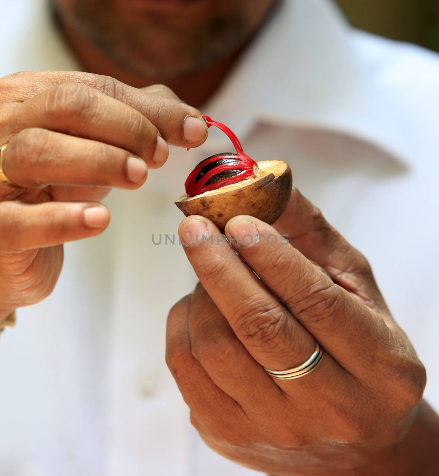
{"type": "Polygon", "coordinates": [[[0,319],[53,289],[62,243],[101,233],[112,187],[135,189],[161,167],[166,143],[199,146],[199,111],[166,87],[135,89],[70,71],[0,79],[0,319]]]}

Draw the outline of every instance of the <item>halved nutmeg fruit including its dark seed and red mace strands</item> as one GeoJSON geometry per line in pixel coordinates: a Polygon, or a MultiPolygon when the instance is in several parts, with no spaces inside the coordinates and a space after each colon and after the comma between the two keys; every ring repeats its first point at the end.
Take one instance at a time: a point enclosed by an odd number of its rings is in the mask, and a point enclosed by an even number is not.
{"type": "Polygon", "coordinates": [[[236,135],[224,124],[201,116],[207,127],[227,134],[236,153],[223,152],[202,160],[185,182],[186,193],[176,202],[186,215],[201,215],[224,230],[230,218],[251,215],[270,225],[288,203],[291,169],[282,160],[255,162],[244,153],[236,135]]]}

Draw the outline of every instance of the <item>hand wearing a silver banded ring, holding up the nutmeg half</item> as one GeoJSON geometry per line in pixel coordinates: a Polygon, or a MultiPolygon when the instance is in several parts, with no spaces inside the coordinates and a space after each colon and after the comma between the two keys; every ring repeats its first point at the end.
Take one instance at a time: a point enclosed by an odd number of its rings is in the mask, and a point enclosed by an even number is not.
{"type": "Polygon", "coordinates": [[[231,247],[209,220],[181,223],[201,284],[170,312],[167,363],[193,425],[221,455],[279,476],[433,474],[425,371],[366,259],[297,190],[275,228],[233,218],[231,247]],[[323,358],[304,377],[264,370],[303,364],[315,341],[323,358]]]}

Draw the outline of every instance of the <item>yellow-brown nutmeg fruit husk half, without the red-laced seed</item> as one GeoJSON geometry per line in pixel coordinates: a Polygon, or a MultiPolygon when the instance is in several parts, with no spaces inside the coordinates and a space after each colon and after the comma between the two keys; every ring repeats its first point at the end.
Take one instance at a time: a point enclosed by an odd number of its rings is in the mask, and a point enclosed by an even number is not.
{"type": "Polygon", "coordinates": [[[293,185],[291,169],[282,160],[257,162],[255,178],[209,190],[194,197],[183,194],[176,202],[185,214],[201,215],[221,231],[230,218],[251,215],[272,225],[282,215],[293,185]]]}

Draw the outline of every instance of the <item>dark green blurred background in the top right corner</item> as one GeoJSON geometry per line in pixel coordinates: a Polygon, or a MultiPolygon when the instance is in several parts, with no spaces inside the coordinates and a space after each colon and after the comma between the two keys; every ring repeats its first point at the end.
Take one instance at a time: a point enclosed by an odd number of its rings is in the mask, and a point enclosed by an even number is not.
{"type": "Polygon", "coordinates": [[[335,0],[357,28],[439,51],[439,0],[335,0]]]}

